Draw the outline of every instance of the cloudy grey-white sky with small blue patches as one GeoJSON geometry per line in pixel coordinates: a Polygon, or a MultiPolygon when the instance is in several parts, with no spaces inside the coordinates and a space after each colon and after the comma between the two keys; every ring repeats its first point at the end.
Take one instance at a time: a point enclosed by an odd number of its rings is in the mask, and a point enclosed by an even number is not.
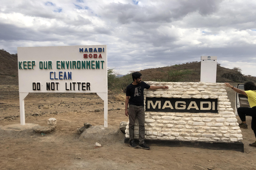
{"type": "Polygon", "coordinates": [[[0,49],[108,47],[120,74],[217,56],[256,76],[256,1],[1,0],[0,49]]]}

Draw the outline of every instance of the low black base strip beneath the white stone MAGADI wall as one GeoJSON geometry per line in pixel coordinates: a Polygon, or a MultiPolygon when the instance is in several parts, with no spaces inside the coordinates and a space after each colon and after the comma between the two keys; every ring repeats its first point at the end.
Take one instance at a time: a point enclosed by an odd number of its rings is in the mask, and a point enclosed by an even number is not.
{"type": "MultiPolygon", "coordinates": [[[[139,140],[134,139],[138,144],[139,140]]],[[[170,146],[170,147],[195,147],[203,149],[216,149],[216,150],[234,150],[244,152],[243,142],[204,142],[204,141],[182,141],[182,140],[154,140],[145,139],[147,144],[156,144],[159,146],[170,146]]],[[[124,139],[124,143],[129,143],[129,138],[124,139]]]]}

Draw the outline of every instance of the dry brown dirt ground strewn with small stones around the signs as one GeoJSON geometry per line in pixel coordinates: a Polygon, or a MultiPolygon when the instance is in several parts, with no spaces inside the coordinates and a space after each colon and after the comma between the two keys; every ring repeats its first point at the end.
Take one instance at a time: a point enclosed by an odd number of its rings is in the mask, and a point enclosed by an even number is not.
{"type": "MultiPolygon", "coordinates": [[[[229,90],[228,96],[234,103],[234,93],[229,90]]],[[[120,122],[128,121],[122,103],[109,98],[110,127],[119,128],[120,122]]],[[[1,170],[256,170],[256,148],[249,146],[255,141],[250,127],[241,129],[244,153],[158,145],[151,145],[150,150],[134,149],[124,143],[124,138],[103,141],[102,147],[94,148],[94,141],[79,139],[77,128],[85,122],[93,126],[104,124],[103,101],[96,94],[32,93],[25,100],[25,114],[26,123],[41,126],[47,126],[49,118],[56,118],[56,130],[51,134],[22,137],[0,134],[1,170]],[[39,115],[32,116],[35,113],[39,115]]],[[[0,127],[20,124],[16,116],[19,116],[18,86],[1,85],[0,127]],[[7,116],[11,120],[4,119],[7,116]]],[[[249,126],[250,120],[248,117],[249,126]]]]}

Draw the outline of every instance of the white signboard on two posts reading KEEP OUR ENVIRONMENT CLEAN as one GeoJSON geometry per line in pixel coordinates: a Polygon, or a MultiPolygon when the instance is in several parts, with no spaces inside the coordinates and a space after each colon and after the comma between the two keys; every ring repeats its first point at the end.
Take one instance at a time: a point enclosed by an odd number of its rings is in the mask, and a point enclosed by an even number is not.
{"type": "Polygon", "coordinates": [[[18,47],[18,74],[20,100],[38,92],[97,93],[107,112],[106,45],[18,47]]]}

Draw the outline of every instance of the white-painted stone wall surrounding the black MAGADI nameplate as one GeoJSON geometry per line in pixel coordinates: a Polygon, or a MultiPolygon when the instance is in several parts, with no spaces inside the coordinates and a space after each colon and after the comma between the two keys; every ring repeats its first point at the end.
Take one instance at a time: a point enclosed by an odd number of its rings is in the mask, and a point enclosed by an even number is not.
{"type": "MultiPolygon", "coordinates": [[[[146,82],[153,86],[168,86],[163,90],[144,90],[146,97],[217,99],[218,113],[145,112],[145,138],[186,141],[241,141],[242,134],[229,102],[225,83],[146,82]]],[[[129,138],[129,121],[126,126],[129,138]]],[[[139,138],[138,120],[134,138],[139,138]]]]}

